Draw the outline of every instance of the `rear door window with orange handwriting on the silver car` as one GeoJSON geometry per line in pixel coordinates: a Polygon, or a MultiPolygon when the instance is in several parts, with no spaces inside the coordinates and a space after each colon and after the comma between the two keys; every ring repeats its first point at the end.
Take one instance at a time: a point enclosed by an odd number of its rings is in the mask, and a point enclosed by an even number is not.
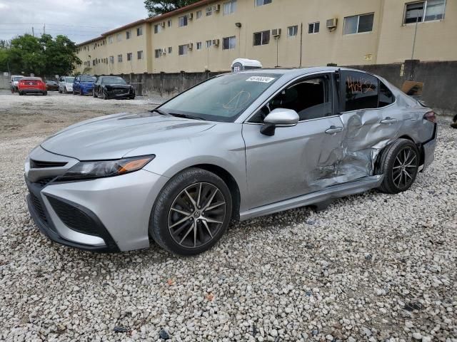
{"type": "Polygon", "coordinates": [[[343,71],[343,111],[378,108],[378,78],[368,73],[343,71]]]}

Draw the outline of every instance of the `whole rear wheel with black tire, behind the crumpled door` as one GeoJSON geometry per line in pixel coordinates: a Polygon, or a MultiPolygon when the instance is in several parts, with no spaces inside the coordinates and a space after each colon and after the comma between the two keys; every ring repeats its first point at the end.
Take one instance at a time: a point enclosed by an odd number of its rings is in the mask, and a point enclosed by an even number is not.
{"type": "Polygon", "coordinates": [[[419,159],[418,148],[411,140],[398,139],[388,145],[379,163],[380,172],[384,175],[379,190],[387,194],[408,190],[416,180],[419,159]]]}

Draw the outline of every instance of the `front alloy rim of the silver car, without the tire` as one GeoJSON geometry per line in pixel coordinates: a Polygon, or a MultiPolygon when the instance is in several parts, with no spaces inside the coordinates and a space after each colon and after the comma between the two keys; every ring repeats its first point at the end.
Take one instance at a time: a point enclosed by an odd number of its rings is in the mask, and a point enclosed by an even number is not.
{"type": "Polygon", "coordinates": [[[169,210],[168,227],[174,241],[185,248],[209,243],[226,218],[226,200],[216,185],[197,182],[182,190],[169,210]]]}

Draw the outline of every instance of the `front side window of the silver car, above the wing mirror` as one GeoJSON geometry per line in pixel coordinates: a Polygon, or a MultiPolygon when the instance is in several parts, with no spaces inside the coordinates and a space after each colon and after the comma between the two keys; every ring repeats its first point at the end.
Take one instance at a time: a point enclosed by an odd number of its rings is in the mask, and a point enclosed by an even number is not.
{"type": "Polygon", "coordinates": [[[276,108],[292,109],[300,121],[332,115],[331,86],[328,76],[304,78],[281,90],[249,120],[263,123],[263,119],[276,108]]]}

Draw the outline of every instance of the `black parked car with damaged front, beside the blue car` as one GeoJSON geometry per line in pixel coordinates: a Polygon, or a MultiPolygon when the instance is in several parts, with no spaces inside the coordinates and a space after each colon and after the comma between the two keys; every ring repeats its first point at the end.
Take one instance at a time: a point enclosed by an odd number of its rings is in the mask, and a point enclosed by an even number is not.
{"type": "Polygon", "coordinates": [[[94,85],[94,98],[135,98],[135,88],[119,76],[100,76],[94,85]]]}

